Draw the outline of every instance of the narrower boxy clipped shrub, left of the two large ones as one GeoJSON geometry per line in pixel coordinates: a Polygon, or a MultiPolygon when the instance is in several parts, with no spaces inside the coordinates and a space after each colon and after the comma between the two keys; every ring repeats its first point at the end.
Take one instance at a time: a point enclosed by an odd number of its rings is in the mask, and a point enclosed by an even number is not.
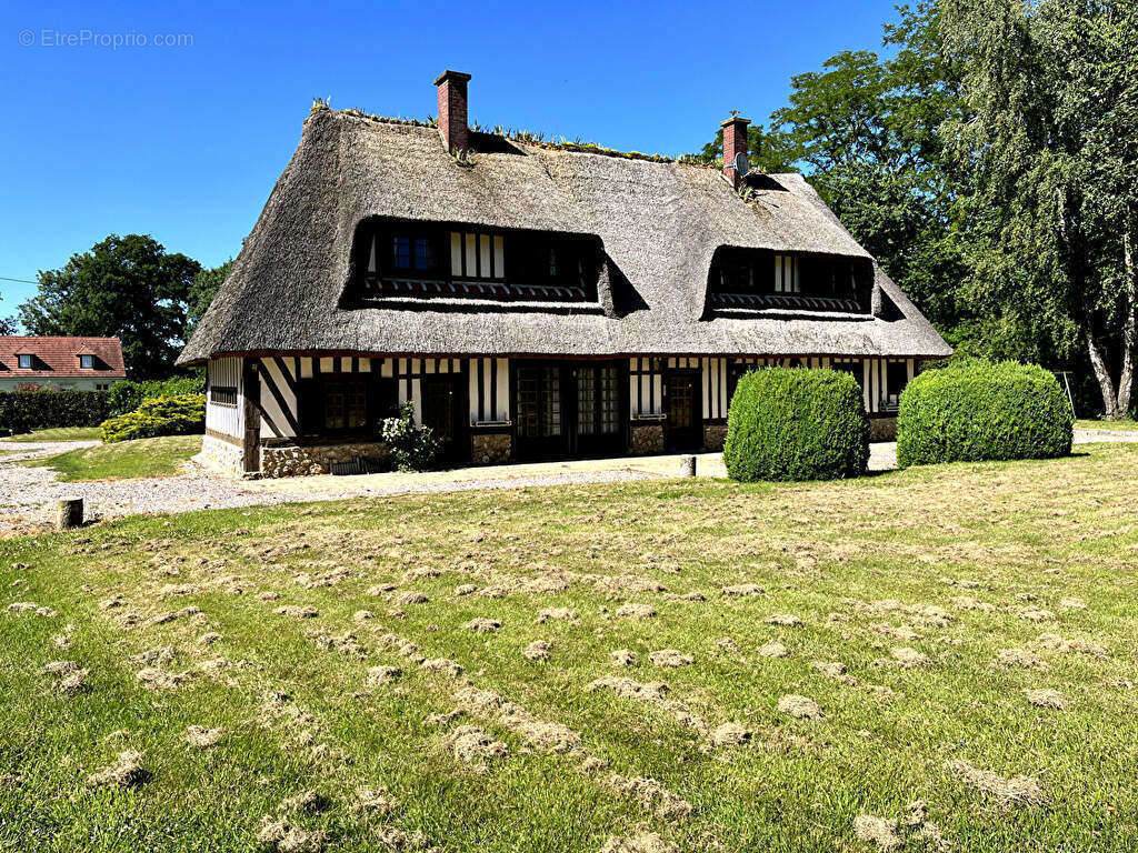
{"type": "Polygon", "coordinates": [[[853,376],[768,367],[739,381],[723,459],[735,480],[858,477],[869,461],[869,422],[853,376]]]}

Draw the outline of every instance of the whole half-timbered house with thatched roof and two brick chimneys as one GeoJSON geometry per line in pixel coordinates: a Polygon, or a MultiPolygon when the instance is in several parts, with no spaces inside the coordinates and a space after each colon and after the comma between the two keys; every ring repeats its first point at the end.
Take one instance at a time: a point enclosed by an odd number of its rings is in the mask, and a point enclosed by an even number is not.
{"type": "Polygon", "coordinates": [[[749,171],[748,119],[720,169],[476,132],[469,80],[435,81],[437,126],[305,121],[179,359],[206,458],[327,471],[409,400],[455,463],[719,449],[772,364],[851,373],[884,438],[951,353],[801,175],[749,171]]]}

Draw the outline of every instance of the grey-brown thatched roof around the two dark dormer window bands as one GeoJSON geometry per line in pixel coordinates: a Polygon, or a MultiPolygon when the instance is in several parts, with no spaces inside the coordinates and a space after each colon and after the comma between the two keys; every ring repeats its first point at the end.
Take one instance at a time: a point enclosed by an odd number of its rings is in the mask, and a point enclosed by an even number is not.
{"type": "Polygon", "coordinates": [[[473,166],[432,127],[315,110],[179,363],[237,353],[946,356],[876,270],[879,316],[704,316],[720,246],[867,258],[800,175],[736,194],[718,171],[475,134],[473,166]],[[605,310],[343,307],[371,216],[594,234],[605,310]]]}

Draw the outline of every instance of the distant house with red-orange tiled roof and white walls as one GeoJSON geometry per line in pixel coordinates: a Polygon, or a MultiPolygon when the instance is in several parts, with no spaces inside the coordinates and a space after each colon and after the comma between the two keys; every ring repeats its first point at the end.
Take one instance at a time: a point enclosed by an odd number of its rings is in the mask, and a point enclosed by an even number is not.
{"type": "Polygon", "coordinates": [[[124,379],[118,338],[0,337],[0,391],[28,384],[104,391],[124,379]]]}

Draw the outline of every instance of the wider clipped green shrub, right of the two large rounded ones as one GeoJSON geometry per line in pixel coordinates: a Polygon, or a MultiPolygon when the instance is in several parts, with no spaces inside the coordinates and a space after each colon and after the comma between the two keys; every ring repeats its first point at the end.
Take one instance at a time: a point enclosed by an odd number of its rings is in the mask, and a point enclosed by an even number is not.
{"type": "Polygon", "coordinates": [[[1071,453],[1074,415],[1055,376],[1034,365],[971,362],[926,371],[901,394],[901,467],[1071,453]]]}

